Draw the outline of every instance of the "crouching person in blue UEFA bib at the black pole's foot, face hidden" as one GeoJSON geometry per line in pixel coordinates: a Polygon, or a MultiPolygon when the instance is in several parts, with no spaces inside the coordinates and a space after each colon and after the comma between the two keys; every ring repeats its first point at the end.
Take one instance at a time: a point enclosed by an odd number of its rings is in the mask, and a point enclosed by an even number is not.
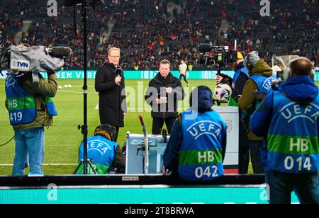
{"type": "MultiPolygon", "coordinates": [[[[94,137],[87,139],[87,159],[92,161],[97,174],[108,174],[112,171],[125,173],[125,155],[121,147],[113,140],[116,137],[116,127],[111,125],[100,125],[94,130],[94,137]]],[[[83,160],[82,142],[79,147],[79,164],[83,160]]],[[[82,174],[84,165],[80,165],[75,173],[82,174]]],[[[94,174],[88,164],[88,173],[94,174]]]]}

